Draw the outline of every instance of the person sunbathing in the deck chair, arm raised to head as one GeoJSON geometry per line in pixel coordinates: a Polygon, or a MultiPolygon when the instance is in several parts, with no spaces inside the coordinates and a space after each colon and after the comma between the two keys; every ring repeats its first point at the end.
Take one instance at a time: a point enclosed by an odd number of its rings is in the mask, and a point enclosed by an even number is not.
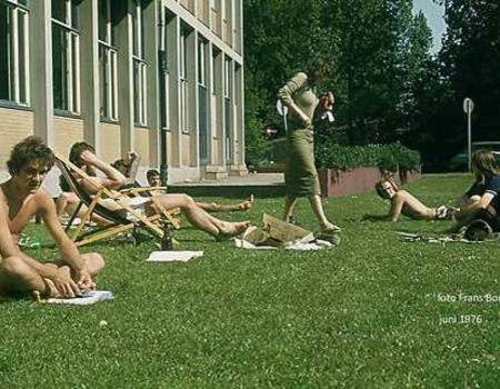
{"type": "MultiPolygon", "coordinates": [[[[96,157],[93,147],[89,143],[74,143],[70,150],[70,161],[84,170],[89,176],[94,176],[92,179],[96,183],[110,190],[119,189],[126,181],[122,173],[96,157]],[[96,176],[96,170],[101,171],[103,177],[96,176]]],[[[89,193],[96,193],[96,188],[90,182],[81,180],[80,183],[89,193]]],[[[180,208],[194,228],[211,235],[218,240],[240,235],[250,227],[248,221],[228,222],[212,217],[198,207],[192,198],[187,194],[157,193],[154,199],[166,209],[180,208]]],[[[134,199],[130,199],[130,201],[134,199]]],[[[144,202],[143,205],[147,215],[158,212],[151,201],[144,202]]]]}

